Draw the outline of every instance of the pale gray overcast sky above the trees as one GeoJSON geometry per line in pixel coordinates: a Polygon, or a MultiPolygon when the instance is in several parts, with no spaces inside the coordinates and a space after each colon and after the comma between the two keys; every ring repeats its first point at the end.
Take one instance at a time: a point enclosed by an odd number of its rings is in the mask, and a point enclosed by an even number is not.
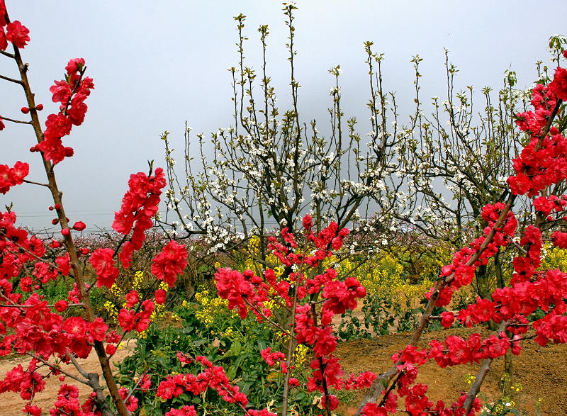
{"type": "MultiPolygon", "coordinates": [[[[555,1],[370,1],[300,0],[296,11],[296,79],[301,84],[303,120],[327,122],[330,67],[340,64],[345,116],[366,120],[369,99],[364,41],[385,53],[384,84],[395,91],[401,122],[413,99],[412,55],[424,59],[425,103],[444,96],[444,47],[459,66],[456,85],[477,90],[501,86],[503,72],[517,72],[519,85],[536,78],[534,62],[549,62],[550,35],[564,33],[567,2],[555,1]],[[551,16],[539,23],[537,16],[551,16]],[[562,33],[563,30],[563,33],[562,33]]],[[[23,59],[30,64],[43,120],[57,111],[49,87],[61,79],[72,57],[84,57],[96,89],[86,101],[85,123],[64,138],[75,155],[57,165],[57,179],[72,222],[87,230],[109,227],[131,173],[147,172],[147,160],[164,166],[162,140],[168,130],[182,148],[184,121],[206,135],[231,123],[230,74],[237,64],[233,16],[247,16],[245,56],[261,69],[260,24],[270,26],[268,71],[280,110],[288,102],[286,26],[281,1],[21,1],[6,0],[12,20],[30,29],[23,59]]],[[[13,61],[0,56],[0,74],[16,76],[13,61]]],[[[259,89],[259,88],[258,88],[259,89]]],[[[17,86],[0,82],[0,115],[22,118],[17,86]]],[[[283,111],[280,111],[283,113],[283,111]]],[[[28,179],[45,181],[29,126],[6,123],[0,133],[0,164],[30,163],[28,179]]],[[[361,123],[364,125],[364,123],[361,123]]],[[[324,131],[323,129],[321,129],[324,131]]],[[[361,128],[361,135],[367,131],[361,128]]],[[[175,142],[178,145],[175,145],[175,142]]],[[[178,160],[181,154],[177,154],[178,160]]],[[[35,229],[51,227],[47,189],[23,184],[0,195],[0,208],[13,201],[18,219],[35,229]]]]}

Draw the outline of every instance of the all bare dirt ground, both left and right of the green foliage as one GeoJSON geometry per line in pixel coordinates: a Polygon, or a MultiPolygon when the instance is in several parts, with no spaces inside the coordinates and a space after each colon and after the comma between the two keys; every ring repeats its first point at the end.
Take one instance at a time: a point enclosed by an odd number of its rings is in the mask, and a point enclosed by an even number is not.
{"type": "MultiPolygon", "coordinates": [[[[478,329],[476,330],[478,331],[478,329]]],[[[443,332],[443,336],[461,335],[467,337],[473,330],[452,329],[443,332]]],[[[481,331],[482,332],[482,331],[481,331]]],[[[488,332],[485,332],[488,335],[488,332]]],[[[430,339],[440,334],[431,332],[425,334],[422,343],[425,345],[430,339]]],[[[381,373],[390,368],[390,356],[405,347],[408,334],[395,334],[377,337],[375,339],[360,339],[339,345],[337,356],[341,359],[345,373],[358,373],[361,371],[375,371],[381,373]]],[[[123,359],[128,354],[128,347],[119,350],[113,361],[123,359]]],[[[26,368],[28,360],[16,357],[0,361],[0,378],[13,366],[21,363],[26,368]]],[[[96,371],[98,362],[95,354],[82,360],[87,371],[96,371]]],[[[479,365],[455,366],[439,369],[437,364],[430,363],[420,368],[417,381],[429,386],[428,395],[433,402],[444,400],[452,403],[459,397],[461,390],[468,390],[466,374],[476,374],[479,365]]],[[[483,384],[481,399],[485,402],[502,397],[500,378],[503,376],[503,360],[497,359],[493,363],[493,370],[483,384]]],[[[529,415],[567,415],[567,345],[549,345],[541,347],[531,341],[524,342],[524,349],[520,356],[514,358],[513,385],[520,383],[520,391],[514,393],[512,400],[515,407],[529,415]],[[541,399],[541,400],[540,400],[541,399]],[[539,405],[538,405],[539,402],[539,405]]],[[[69,380],[70,383],[70,380],[69,380]]],[[[57,396],[60,381],[50,378],[46,381],[46,388],[36,395],[35,404],[43,407],[45,414],[52,406],[57,396]]],[[[86,398],[89,392],[82,389],[82,396],[86,398]]],[[[361,397],[361,396],[359,396],[361,397]]],[[[359,397],[352,403],[342,407],[341,413],[353,415],[359,397]]],[[[22,415],[24,401],[14,393],[0,395],[0,416],[22,415]]],[[[400,413],[401,414],[401,413],[400,413]]]]}

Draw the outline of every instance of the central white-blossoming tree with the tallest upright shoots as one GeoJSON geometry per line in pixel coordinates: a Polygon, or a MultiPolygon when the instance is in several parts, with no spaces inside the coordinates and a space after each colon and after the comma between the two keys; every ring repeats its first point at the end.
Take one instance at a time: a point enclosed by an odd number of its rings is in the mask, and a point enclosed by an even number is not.
{"type": "MultiPolygon", "coordinates": [[[[298,99],[300,84],[294,65],[296,49],[293,13],[296,6],[284,4],[288,26],[291,108],[276,105],[266,63],[268,26],[260,26],[262,72],[248,67],[244,56],[245,17],[236,16],[240,62],[230,68],[234,125],[213,133],[210,142],[202,134],[198,140],[186,130],[183,166],[174,167],[175,154],[169,133],[165,142],[169,189],[168,213],[164,221],[176,228],[178,237],[201,235],[210,251],[227,254],[245,251],[257,264],[267,264],[268,237],[284,227],[301,232],[301,219],[312,213],[316,230],[330,221],[339,227],[354,227],[359,235],[349,242],[349,251],[375,249],[374,230],[383,229],[381,218],[366,218],[376,211],[376,201],[387,199],[386,182],[391,180],[396,135],[386,131],[386,93],[367,46],[371,87],[371,127],[369,140],[357,132],[356,118],[344,117],[339,86],[341,69],[329,70],[333,78],[329,137],[318,130],[315,120],[301,117],[298,99]],[[254,88],[259,83],[260,94],[254,88]],[[195,143],[196,142],[196,143],[195,143]],[[200,157],[196,158],[195,154],[200,157]],[[213,154],[213,156],[208,156],[213,154]],[[259,238],[259,255],[247,250],[252,237],[259,238]],[[369,244],[364,244],[368,241],[369,244]]],[[[386,213],[384,213],[386,214],[386,213]]]]}

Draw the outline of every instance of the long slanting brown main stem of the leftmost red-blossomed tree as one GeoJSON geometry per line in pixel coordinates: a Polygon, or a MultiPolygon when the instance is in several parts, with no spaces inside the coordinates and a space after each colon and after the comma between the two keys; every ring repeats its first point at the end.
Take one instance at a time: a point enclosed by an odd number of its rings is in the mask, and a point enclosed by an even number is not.
{"type": "MultiPolygon", "coordinates": [[[[8,13],[6,13],[6,22],[9,23],[8,13]]],[[[23,87],[24,93],[26,94],[26,100],[28,101],[28,108],[30,108],[31,125],[33,126],[35,137],[38,140],[38,143],[40,143],[43,141],[43,131],[38,116],[37,106],[35,104],[35,96],[31,91],[30,82],[28,81],[28,64],[23,63],[20,51],[18,50],[18,47],[16,47],[16,45],[14,45],[13,47],[13,59],[16,61],[16,64],[18,65],[18,71],[20,72],[20,77],[21,77],[21,85],[23,87]]],[[[53,172],[54,165],[50,160],[45,159],[45,157],[42,157],[42,161],[43,161],[43,167],[45,169],[45,174],[47,174],[47,180],[49,183],[49,189],[52,194],[53,202],[55,203],[55,205],[58,204],[60,206],[60,209],[57,210],[57,216],[59,218],[61,227],[62,229],[69,229],[69,224],[67,223],[67,216],[65,215],[63,203],[62,203],[63,193],[57,187],[57,181],[55,180],[55,172],[53,172]]],[[[79,257],[77,255],[77,249],[74,246],[71,233],[69,233],[68,235],[64,235],[64,244],[69,254],[69,261],[72,265],[74,280],[77,283],[77,287],[79,288],[81,299],[84,303],[86,320],[88,320],[89,322],[94,322],[96,316],[94,314],[94,309],[92,308],[91,305],[91,300],[89,296],[86,295],[86,285],[84,281],[84,276],[82,274],[82,269],[79,266],[79,257]]],[[[108,391],[112,396],[113,402],[116,403],[118,414],[120,416],[130,416],[130,411],[126,408],[122,398],[120,398],[120,393],[118,393],[118,386],[116,385],[116,380],[114,379],[110,363],[108,362],[108,356],[106,356],[103,343],[101,341],[95,341],[94,349],[96,350],[96,355],[99,357],[99,362],[101,364],[101,369],[103,372],[104,379],[106,380],[106,386],[108,386],[108,391]]],[[[96,385],[93,384],[93,386],[91,387],[94,388],[96,395],[98,397],[103,397],[102,389],[98,381],[96,382],[96,385]]],[[[104,401],[101,402],[101,405],[103,403],[106,405],[104,401]]],[[[108,406],[106,406],[106,409],[103,408],[101,410],[103,412],[103,415],[112,415],[110,410],[108,410],[108,406]]]]}

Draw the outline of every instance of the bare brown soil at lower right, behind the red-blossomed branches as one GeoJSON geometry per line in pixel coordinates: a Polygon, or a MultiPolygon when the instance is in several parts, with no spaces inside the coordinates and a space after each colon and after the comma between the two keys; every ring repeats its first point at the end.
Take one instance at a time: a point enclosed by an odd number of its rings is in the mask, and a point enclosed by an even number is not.
{"type": "MultiPolygon", "coordinates": [[[[443,332],[430,332],[422,337],[420,347],[434,338],[443,339],[449,335],[468,337],[473,332],[481,332],[483,337],[490,335],[488,330],[479,328],[456,328],[443,332]]],[[[410,334],[395,334],[375,339],[359,339],[339,346],[337,356],[341,359],[345,373],[374,371],[383,373],[393,364],[391,355],[407,344],[410,334]]],[[[522,353],[514,357],[514,380],[520,383],[521,390],[512,395],[515,407],[527,415],[567,415],[567,344],[549,344],[541,347],[528,340],[522,344],[522,353]],[[538,400],[541,399],[539,406],[538,400]],[[538,410],[539,407],[539,410],[538,410]]],[[[441,369],[434,361],[420,367],[417,382],[429,386],[427,395],[432,402],[444,400],[453,403],[461,391],[468,391],[470,385],[465,381],[466,374],[476,375],[480,364],[468,364],[441,369]]],[[[481,388],[481,401],[492,402],[503,395],[500,378],[504,374],[503,359],[493,361],[492,370],[481,388]]],[[[361,398],[363,393],[359,395],[361,398]]],[[[358,402],[359,400],[357,400],[358,402]]],[[[345,412],[353,415],[352,407],[345,412]]],[[[400,413],[402,415],[403,413],[400,413]]],[[[511,413],[510,413],[511,414],[511,413]]]]}

